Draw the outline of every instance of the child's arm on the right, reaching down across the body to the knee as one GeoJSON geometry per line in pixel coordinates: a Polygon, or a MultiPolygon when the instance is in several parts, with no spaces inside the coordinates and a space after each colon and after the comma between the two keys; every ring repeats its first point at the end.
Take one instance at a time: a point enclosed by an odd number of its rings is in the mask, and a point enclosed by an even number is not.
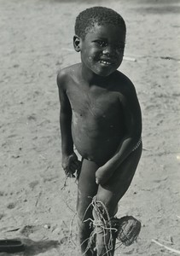
{"type": "Polygon", "coordinates": [[[134,85],[129,82],[125,96],[120,96],[119,100],[124,110],[126,134],[116,153],[96,171],[96,183],[106,183],[107,179],[113,175],[113,172],[120,164],[131,154],[132,149],[141,138],[142,134],[142,113],[136,96],[134,85]],[[103,178],[103,172],[106,175],[103,178]],[[102,174],[102,175],[101,175],[102,174]]]}

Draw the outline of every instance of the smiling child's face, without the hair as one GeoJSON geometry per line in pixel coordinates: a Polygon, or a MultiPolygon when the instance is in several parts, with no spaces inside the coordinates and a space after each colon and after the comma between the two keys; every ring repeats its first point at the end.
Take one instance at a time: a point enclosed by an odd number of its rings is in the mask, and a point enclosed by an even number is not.
{"type": "Polygon", "coordinates": [[[93,73],[108,76],[120,66],[125,49],[125,31],[119,26],[94,26],[80,38],[81,61],[93,73]]]}

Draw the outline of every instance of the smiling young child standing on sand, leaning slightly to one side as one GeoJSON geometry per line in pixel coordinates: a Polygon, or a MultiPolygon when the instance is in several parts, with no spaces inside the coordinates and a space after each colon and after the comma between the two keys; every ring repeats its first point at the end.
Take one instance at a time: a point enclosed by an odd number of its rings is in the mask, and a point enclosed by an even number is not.
{"type": "Polygon", "coordinates": [[[57,77],[62,167],[73,177],[81,166],[78,230],[82,255],[87,256],[113,256],[115,233],[110,229],[104,233],[99,212],[103,221],[108,216],[113,225],[118,202],[129,188],[142,154],[136,90],[131,80],[117,71],[123,61],[125,33],[125,21],[112,9],[85,9],[76,19],[73,38],[81,62],[61,70],[57,77]],[[93,198],[96,207],[90,207],[93,198]],[[91,221],[96,224],[96,251],[89,243],[91,221]]]}

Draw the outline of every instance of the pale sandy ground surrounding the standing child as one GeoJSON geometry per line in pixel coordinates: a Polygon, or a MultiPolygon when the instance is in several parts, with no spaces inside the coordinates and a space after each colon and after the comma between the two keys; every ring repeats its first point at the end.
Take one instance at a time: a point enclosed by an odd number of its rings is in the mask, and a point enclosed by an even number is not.
{"type": "Polygon", "coordinates": [[[142,160],[118,212],[140,219],[142,231],[115,255],[171,255],[152,239],[180,250],[180,2],[0,0],[0,239],[24,240],[25,253],[14,255],[79,255],[77,185],[62,189],[55,79],[79,61],[74,20],[94,5],[125,18],[120,70],[142,106],[142,160]]]}

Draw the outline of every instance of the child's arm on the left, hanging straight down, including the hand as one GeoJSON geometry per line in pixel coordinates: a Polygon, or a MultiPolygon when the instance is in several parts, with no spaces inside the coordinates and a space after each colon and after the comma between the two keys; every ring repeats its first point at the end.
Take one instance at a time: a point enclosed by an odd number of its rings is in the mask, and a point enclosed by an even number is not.
{"type": "Polygon", "coordinates": [[[73,151],[72,137],[72,108],[66,93],[66,75],[59,73],[57,76],[57,85],[60,99],[60,128],[61,128],[61,154],[62,167],[67,176],[73,176],[79,167],[77,155],[73,151]]]}

